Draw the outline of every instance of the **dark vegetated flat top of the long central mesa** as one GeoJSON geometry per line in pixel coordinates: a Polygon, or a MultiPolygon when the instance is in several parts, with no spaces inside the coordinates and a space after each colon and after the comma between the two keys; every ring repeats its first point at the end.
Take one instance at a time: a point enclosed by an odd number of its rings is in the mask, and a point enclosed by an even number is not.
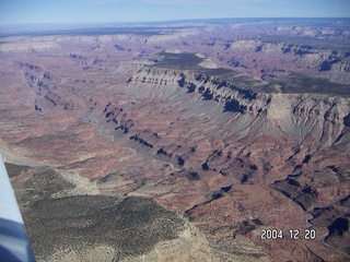
{"type": "MultiPolygon", "coordinates": [[[[152,67],[171,68],[177,70],[191,70],[200,73],[200,75],[209,75],[219,78],[221,81],[228,81],[234,83],[241,90],[253,91],[258,93],[313,93],[313,94],[327,94],[327,95],[340,95],[350,96],[350,85],[334,83],[327,79],[308,76],[300,73],[292,73],[287,76],[276,78],[268,84],[264,84],[262,81],[255,78],[242,74],[230,69],[207,69],[199,66],[203,61],[202,58],[198,58],[195,53],[160,53],[160,59],[152,67]],[[280,86],[280,90],[276,90],[276,85],[280,86]]],[[[179,81],[179,85],[184,86],[185,79],[179,81]]],[[[220,85],[218,85],[220,87],[220,85]]],[[[188,93],[194,92],[194,86],[188,88],[188,93]]],[[[210,92],[202,93],[205,99],[212,99],[210,92]]],[[[248,98],[248,97],[246,97],[248,98]]],[[[255,98],[255,97],[252,97],[255,98]]]]}

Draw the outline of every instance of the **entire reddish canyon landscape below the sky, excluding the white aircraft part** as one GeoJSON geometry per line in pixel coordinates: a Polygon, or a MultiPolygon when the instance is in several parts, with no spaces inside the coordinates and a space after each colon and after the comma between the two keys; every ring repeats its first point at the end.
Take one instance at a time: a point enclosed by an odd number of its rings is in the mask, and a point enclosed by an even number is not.
{"type": "Polygon", "coordinates": [[[349,20],[118,26],[1,32],[37,260],[349,261],[349,20]]]}

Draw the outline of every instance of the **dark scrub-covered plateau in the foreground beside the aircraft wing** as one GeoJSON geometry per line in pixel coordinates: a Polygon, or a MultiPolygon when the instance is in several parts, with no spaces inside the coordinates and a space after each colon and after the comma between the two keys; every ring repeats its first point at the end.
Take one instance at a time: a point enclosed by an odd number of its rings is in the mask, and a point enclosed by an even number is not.
{"type": "Polygon", "coordinates": [[[119,251],[116,261],[147,253],[159,241],[177,238],[184,229],[184,221],[174,212],[138,196],[44,199],[33,203],[25,223],[40,258],[56,249],[108,245],[119,251]]]}

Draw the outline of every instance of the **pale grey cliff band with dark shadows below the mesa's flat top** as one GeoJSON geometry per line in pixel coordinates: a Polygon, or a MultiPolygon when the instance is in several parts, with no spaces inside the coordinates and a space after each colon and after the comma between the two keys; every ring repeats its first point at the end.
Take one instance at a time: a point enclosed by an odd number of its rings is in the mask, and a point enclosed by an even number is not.
{"type": "Polygon", "coordinates": [[[223,111],[261,118],[279,126],[299,143],[310,134],[332,144],[343,134],[349,115],[348,98],[324,95],[267,94],[215,76],[161,69],[144,69],[130,80],[132,84],[162,86],[172,84],[186,93],[198,93],[203,100],[222,105],[223,111]]]}

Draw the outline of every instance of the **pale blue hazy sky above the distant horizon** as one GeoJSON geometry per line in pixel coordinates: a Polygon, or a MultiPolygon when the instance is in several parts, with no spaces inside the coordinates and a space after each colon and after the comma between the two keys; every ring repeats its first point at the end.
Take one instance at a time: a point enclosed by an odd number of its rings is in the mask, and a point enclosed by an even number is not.
{"type": "Polygon", "coordinates": [[[0,0],[0,25],[349,16],[350,0],[0,0]]]}

